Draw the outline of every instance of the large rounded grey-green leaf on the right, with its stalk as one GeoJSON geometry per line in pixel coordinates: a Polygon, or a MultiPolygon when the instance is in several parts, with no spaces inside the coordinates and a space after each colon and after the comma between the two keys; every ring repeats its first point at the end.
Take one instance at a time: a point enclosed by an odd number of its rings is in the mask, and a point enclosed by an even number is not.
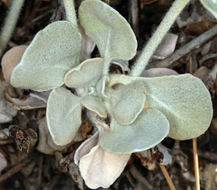
{"type": "MultiPolygon", "coordinates": [[[[120,75],[119,75],[120,76],[120,75]]],[[[203,82],[190,75],[155,78],[121,76],[111,80],[128,84],[143,81],[146,107],[160,110],[170,122],[169,137],[187,140],[200,136],[209,127],[213,110],[209,91],[203,82]]],[[[112,84],[110,84],[112,85],[112,84]]]]}

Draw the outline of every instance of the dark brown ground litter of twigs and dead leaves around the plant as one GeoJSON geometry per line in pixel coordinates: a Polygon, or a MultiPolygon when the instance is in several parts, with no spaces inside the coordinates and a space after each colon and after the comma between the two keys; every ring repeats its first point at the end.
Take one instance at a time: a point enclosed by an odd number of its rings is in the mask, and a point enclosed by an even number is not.
{"type": "MultiPolygon", "coordinates": [[[[153,34],[172,3],[171,0],[110,0],[106,2],[129,21],[136,33],[139,51],[153,34]]],[[[76,0],[75,3],[77,8],[81,0],[76,0]]],[[[0,0],[0,28],[4,23],[9,5],[10,0],[0,0]]],[[[29,44],[40,29],[64,18],[65,12],[61,1],[25,1],[6,50],[17,45],[29,44]]],[[[217,110],[215,109],[217,103],[217,29],[212,31],[211,37],[207,34],[207,31],[212,30],[215,26],[217,26],[217,20],[202,7],[199,0],[192,0],[169,31],[177,37],[177,41],[165,44],[166,47],[175,46],[175,50],[169,55],[170,59],[167,58],[168,55],[165,57],[163,55],[162,58],[156,54],[149,64],[149,67],[164,64],[180,74],[192,73],[203,80],[211,93],[214,108],[213,121],[207,132],[197,138],[201,189],[204,190],[217,189],[217,110]],[[188,49],[192,44],[193,48],[188,49]],[[178,50],[180,51],[178,58],[172,57],[178,50]]],[[[97,51],[93,52],[93,54],[97,53],[97,51]]],[[[132,63],[133,61],[130,62],[130,67],[132,63]]],[[[112,72],[119,72],[119,70],[119,67],[112,68],[112,72]]],[[[0,77],[3,80],[2,74],[0,77]]],[[[11,100],[11,97],[6,98],[6,101],[13,102],[19,111],[11,121],[0,124],[0,159],[2,158],[2,164],[0,160],[0,171],[2,171],[0,190],[88,189],[81,179],[77,166],[71,161],[80,142],[55,152],[49,152],[51,148],[44,144],[39,148],[39,138],[42,138],[40,135],[47,135],[47,131],[39,130],[43,125],[46,105],[37,102],[40,106],[33,105],[32,109],[26,109],[27,105],[21,105],[19,101],[28,99],[30,91],[15,90],[9,87],[5,92],[4,85],[1,85],[4,98],[10,93],[16,94],[16,101],[11,100]],[[46,151],[49,153],[46,154],[46,151]]],[[[81,141],[92,134],[89,121],[84,119],[80,132],[81,141]]],[[[43,142],[47,141],[44,139],[43,142]]],[[[166,138],[162,144],[168,148],[172,157],[172,163],[166,168],[176,189],[196,189],[192,141],[175,141],[166,138]]],[[[149,159],[134,154],[122,175],[109,189],[169,189],[158,165],[159,157],[156,152],[156,149],[150,150],[149,159]]]]}

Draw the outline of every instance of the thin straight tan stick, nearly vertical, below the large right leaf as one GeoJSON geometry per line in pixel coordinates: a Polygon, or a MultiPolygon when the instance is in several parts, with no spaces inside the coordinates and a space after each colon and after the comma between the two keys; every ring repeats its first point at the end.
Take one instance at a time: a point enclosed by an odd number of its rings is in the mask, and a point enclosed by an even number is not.
{"type": "Polygon", "coordinates": [[[198,164],[198,153],[197,153],[197,139],[192,140],[193,143],[193,156],[194,156],[194,173],[195,173],[195,184],[196,190],[200,190],[200,173],[198,164]]]}

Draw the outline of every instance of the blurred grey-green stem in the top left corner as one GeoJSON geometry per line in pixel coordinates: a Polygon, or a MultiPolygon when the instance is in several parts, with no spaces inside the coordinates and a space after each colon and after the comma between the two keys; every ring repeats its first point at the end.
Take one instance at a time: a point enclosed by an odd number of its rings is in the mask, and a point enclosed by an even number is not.
{"type": "Polygon", "coordinates": [[[0,56],[14,31],[24,0],[13,0],[0,35],[0,56]]]}

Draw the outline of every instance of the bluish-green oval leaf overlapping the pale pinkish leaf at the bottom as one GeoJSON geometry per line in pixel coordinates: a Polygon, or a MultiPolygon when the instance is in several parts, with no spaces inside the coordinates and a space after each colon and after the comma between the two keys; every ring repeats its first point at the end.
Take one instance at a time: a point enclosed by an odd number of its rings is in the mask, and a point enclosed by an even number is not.
{"type": "Polygon", "coordinates": [[[112,119],[111,130],[99,137],[99,144],[108,152],[133,153],[159,144],[169,133],[169,122],[158,110],[144,110],[131,125],[119,125],[112,119]]]}

